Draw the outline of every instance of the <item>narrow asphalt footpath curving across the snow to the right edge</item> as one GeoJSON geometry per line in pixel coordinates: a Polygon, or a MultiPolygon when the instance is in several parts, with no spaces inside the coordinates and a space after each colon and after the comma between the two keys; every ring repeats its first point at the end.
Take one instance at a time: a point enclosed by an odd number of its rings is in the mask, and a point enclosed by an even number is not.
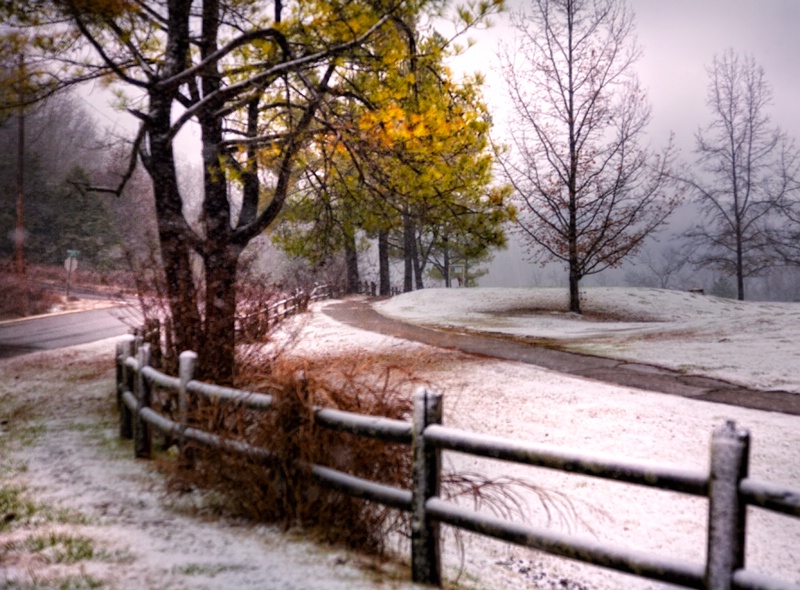
{"type": "Polygon", "coordinates": [[[374,311],[366,301],[343,301],[324,312],[349,326],[469,354],[517,361],[559,373],[670,395],[800,416],[800,395],[761,391],[702,376],[685,375],[651,365],[619,361],[480,333],[434,330],[395,321],[374,311]]]}

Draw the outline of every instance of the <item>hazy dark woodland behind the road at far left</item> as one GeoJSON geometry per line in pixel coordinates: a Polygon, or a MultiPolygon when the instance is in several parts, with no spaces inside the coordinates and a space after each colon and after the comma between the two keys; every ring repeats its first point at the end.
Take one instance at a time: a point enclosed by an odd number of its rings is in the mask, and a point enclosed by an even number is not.
{"type": "MultiPolygon", "coordinates": [[[[19,113],[0,122],[0,257],[16,249],[19,113]]],[[[68,250],[96,270],[124,263],[112,203],[87,188],[108,163],[96,123],[80,103],[59,97],[25,111],[22,215],[26,262],[62,264],[68,250]]]]}

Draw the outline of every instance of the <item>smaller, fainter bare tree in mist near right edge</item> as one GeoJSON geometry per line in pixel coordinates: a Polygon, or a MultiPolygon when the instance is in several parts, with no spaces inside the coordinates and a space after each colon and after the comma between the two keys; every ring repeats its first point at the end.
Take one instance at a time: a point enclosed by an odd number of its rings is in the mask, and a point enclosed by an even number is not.
{"type": "Polygon", "coordinates": [[[775,264],[770,219],[795,189],[800,160],[794,144],[767,115],[772,91],[764,69],[732,50],[708,68],[707,104],[712,121],[695,135],[696,175],[690,187],[704,218],[690,228],[691,258],[744,279],[775,264]]]}

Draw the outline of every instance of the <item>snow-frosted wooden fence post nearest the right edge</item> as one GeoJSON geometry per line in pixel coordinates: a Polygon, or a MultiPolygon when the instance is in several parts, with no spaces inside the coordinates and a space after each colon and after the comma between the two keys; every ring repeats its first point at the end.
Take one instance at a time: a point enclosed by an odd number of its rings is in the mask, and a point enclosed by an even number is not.
{"type": "Polygon", "coordinates": [[[711,436],[708,489],[706,588],[729,590],[733,574],[744,568],[747,505],[739,483],[747,477],[750,433],[728,420],[711,436]]]}

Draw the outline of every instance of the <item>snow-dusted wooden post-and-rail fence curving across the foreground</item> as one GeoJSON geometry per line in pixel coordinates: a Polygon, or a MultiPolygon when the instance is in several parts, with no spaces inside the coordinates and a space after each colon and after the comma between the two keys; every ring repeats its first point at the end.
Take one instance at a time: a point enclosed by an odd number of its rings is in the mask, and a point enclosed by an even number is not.
{"type": "MultiPolygon", "coordinates": [[[[135,439],[137,457],[150,454],[150,427],[175,436],[181,444],[193,440],[251,457],[269,456],[268,450],[244,441],[223,440],[212,433],[189,427],[187,408],[189,396],[204,396],[269,411],[272,396],[192,380],[196,362],[193,352],[181,354],[179,377],[159,373],[149,366],[149,346],[133,337],[117,345],[116,361],[120,436],[135,439]],[[149,407],[153,385],[178,392],[179,422],[169,420],[149,407]]],[[[688,588],[798,588],[792,582],[745,569],[747,507],[758,506],[800,517],[800,491],[748,477],[749,434],[733,422],[729,421],[713,431],[708,472],[674,465],[654,466],[610,460],[448,428],[441,424],[441,394],[424,388],[415,394],[411,422],[321,408],[315,410],[315,422],[325,428],[411,447],[411,490],[365,480],[320,465],[308,467],[320,483],[411,513],[411,563],[415,582],[441,584],[439,525],[445,523],[509,543],[688,588]],[[439,496],[440,455],[443,450],[705,497],[709,505],[706,561],[672,559],[600,541],[587,541],[456,506],[439,496]]],[[[698,548],[698,553],[700,550],[698,548]]]]}

